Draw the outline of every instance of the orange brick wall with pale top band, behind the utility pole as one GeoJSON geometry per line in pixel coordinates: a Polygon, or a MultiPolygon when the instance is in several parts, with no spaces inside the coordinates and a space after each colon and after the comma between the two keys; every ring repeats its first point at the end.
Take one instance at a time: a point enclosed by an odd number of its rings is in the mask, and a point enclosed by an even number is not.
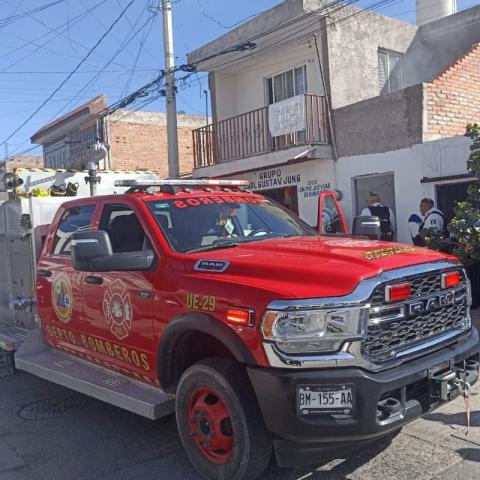
{"type": "MultiPolygon", "coordinates": [[[[205,117],[178,116],[180,174],[193,168],[192,130],[205,125],[205,117]]],[[[118,111],[108,119],[112,169],[154,170],[168,177],[166,117],[163,113],[118,111]]]]}

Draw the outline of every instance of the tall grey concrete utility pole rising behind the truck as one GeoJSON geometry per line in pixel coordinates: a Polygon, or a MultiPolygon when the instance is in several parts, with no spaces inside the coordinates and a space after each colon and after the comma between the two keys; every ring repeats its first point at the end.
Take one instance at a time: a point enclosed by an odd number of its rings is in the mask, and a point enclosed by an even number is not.
{"type": "Polygon", "coordinates": [[[162,0],[163,45],[165,49],[168,178],[178,178],[177,101],[175,89],[175,59],[173,56],[172,2],[162,0]]]}

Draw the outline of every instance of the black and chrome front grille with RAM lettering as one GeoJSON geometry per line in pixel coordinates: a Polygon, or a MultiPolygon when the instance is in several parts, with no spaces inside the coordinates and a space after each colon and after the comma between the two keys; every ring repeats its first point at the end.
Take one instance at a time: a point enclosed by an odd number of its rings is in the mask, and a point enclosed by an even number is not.
{"type": "Polygon", "coordinates": [[[442,289],[443,272],[401,279],[412,285],[412,297],[406,302],[387,303],[385,284],[375,289],[363,341],[365,357],[375,362],[391,360],[404,350],[421,349],[423,343],[465,328],[469,321],[465,275],[462,271],[457,287],[442,289]]]}

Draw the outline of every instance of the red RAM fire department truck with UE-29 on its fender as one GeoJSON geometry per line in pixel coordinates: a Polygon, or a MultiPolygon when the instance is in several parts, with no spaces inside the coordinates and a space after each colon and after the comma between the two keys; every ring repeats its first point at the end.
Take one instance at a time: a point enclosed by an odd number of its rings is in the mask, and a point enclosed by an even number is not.
{"type": "MultiPolygon", "coordinates": [[[[41,329],[17,368],[129,411],[176,414],[207,479],[395,432],[478,380],[451,256],[319,232],[239,181],[128,181],[58,210],[37,265],[41,329]]],[[[370,225],[372,222],[366,222],[370,225]]]]}

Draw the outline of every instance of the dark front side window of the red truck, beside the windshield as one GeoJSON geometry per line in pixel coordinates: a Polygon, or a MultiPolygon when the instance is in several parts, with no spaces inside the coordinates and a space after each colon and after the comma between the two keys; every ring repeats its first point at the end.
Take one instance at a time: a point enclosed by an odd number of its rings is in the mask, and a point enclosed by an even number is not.
{"type": "Polygon", "coordinates": [[[146,245],[145,231],[127,205],[106,205],[100,230],[108,233],[113,253],[138,252],[146,245]]]}

